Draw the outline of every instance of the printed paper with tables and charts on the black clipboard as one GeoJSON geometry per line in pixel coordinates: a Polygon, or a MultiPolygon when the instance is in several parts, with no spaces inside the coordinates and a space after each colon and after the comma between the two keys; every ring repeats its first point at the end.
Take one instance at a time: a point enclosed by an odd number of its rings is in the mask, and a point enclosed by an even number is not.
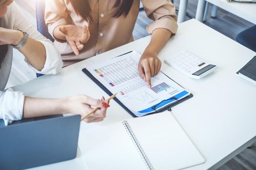
{"type": "Polygon", "coordinates": [[[118,93],[118,100],[137,117],[155,113],[190,95],[162,72],[151,77],[149,88],[139,76],[139,58],[138,52],[131,51],[86,69],[112,94],[118,93]]]}

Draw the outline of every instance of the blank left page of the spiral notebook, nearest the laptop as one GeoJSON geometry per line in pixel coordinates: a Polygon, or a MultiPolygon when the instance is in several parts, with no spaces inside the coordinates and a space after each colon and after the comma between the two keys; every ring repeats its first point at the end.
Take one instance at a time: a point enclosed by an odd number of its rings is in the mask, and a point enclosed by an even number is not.
{"type": "Polygon", "coordinates": [[[148,170],[122,122],[81,130],[78,145],[89,170],[148,170]]]}

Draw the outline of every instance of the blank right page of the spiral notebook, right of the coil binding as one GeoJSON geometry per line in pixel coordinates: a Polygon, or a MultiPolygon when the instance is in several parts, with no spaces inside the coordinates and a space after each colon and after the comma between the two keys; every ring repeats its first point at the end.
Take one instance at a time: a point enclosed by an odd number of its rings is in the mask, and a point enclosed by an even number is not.
{"type": "Polygon", "coordinates": [[[205,162],[170,112],[127,121],[155,170],[180,170],[205,162]]]}

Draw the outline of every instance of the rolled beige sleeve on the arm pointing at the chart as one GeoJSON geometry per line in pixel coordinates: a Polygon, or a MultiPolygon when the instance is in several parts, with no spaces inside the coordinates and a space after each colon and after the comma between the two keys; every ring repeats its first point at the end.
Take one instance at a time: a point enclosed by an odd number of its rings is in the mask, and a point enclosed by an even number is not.
{"type": "Polygon", "coordinates": [[[155,22],[147,26],[148,34],[157,28],[165,28],[177,33],[177,15],[174,4],[170,0],[141,0],[143,8],[150,19],[155,22]]]}

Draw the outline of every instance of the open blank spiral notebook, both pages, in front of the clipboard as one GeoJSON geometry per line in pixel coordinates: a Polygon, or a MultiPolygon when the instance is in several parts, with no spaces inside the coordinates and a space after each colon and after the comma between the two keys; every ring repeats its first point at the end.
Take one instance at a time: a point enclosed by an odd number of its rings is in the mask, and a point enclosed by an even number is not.
{"type": "Polygon", "coordinates": [[[180,170],[205,162],[170,112],[80,131],[90,170],[180,170]]]}

